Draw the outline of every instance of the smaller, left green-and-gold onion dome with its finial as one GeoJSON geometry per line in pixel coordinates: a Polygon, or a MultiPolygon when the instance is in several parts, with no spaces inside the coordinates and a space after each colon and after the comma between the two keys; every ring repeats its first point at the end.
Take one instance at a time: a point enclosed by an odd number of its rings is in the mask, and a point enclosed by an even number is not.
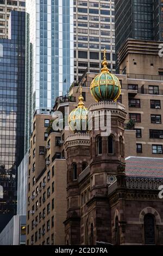
{"type": "Polygon", "coordinates": [[[84,106],[82,87],[80,87],[78,107],[73,109],[68,117],[68,125],[74,132],[86,132],[88,130],[88,111],[84,106]]]}

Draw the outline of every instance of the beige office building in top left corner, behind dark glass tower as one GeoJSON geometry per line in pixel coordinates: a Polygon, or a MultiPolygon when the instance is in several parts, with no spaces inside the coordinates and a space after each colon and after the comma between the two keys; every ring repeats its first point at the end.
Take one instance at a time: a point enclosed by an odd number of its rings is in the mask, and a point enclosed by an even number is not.
{"type": "Polygon", "coordinates": [[[26,0],[0,1],[0,38],[7,38],[8,36],[8,20],[11,10],[25,11],[26,0]]]}

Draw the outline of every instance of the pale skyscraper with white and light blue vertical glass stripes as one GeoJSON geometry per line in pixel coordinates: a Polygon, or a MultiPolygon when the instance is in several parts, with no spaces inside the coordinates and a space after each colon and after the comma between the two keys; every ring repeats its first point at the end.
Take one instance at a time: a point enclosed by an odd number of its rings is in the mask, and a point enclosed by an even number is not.
{"type": "Polygon", "coordinates": [[[36,109],[51,109],[73,82],[73,0],[27,0],[26,150],[36,109]]]}

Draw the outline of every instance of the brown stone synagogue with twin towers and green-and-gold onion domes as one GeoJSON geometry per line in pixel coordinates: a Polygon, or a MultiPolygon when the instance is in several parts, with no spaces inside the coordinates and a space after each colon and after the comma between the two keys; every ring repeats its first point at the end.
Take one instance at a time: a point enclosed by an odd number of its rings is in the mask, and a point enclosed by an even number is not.
{"type": "MultiPolygon", "coordinates": [[[[98,101],[89,107],[96,113],[89,132],[75,131],[65,142],[67,153],[67,218],[65,242],[68,245],[96,245],[97,241],[116,245],[163,244],[162,159],[124,159],[125,107],[115,101],[120,82],[109,73],[104,58],[101,74],[91,83],[98,101]],[[106,121],[111,112],[111,133],[97,129],[101,113],[106,121]]],[[[80,103],[69,125],[85,120],[80,103]]],[[[89,116],[89,115],[88,115],[89,116]]],[[[72,117],[72,118],[71,118],[72,117]]],[[[127,145],[126,145],[127,147],[127,145]]]]}

